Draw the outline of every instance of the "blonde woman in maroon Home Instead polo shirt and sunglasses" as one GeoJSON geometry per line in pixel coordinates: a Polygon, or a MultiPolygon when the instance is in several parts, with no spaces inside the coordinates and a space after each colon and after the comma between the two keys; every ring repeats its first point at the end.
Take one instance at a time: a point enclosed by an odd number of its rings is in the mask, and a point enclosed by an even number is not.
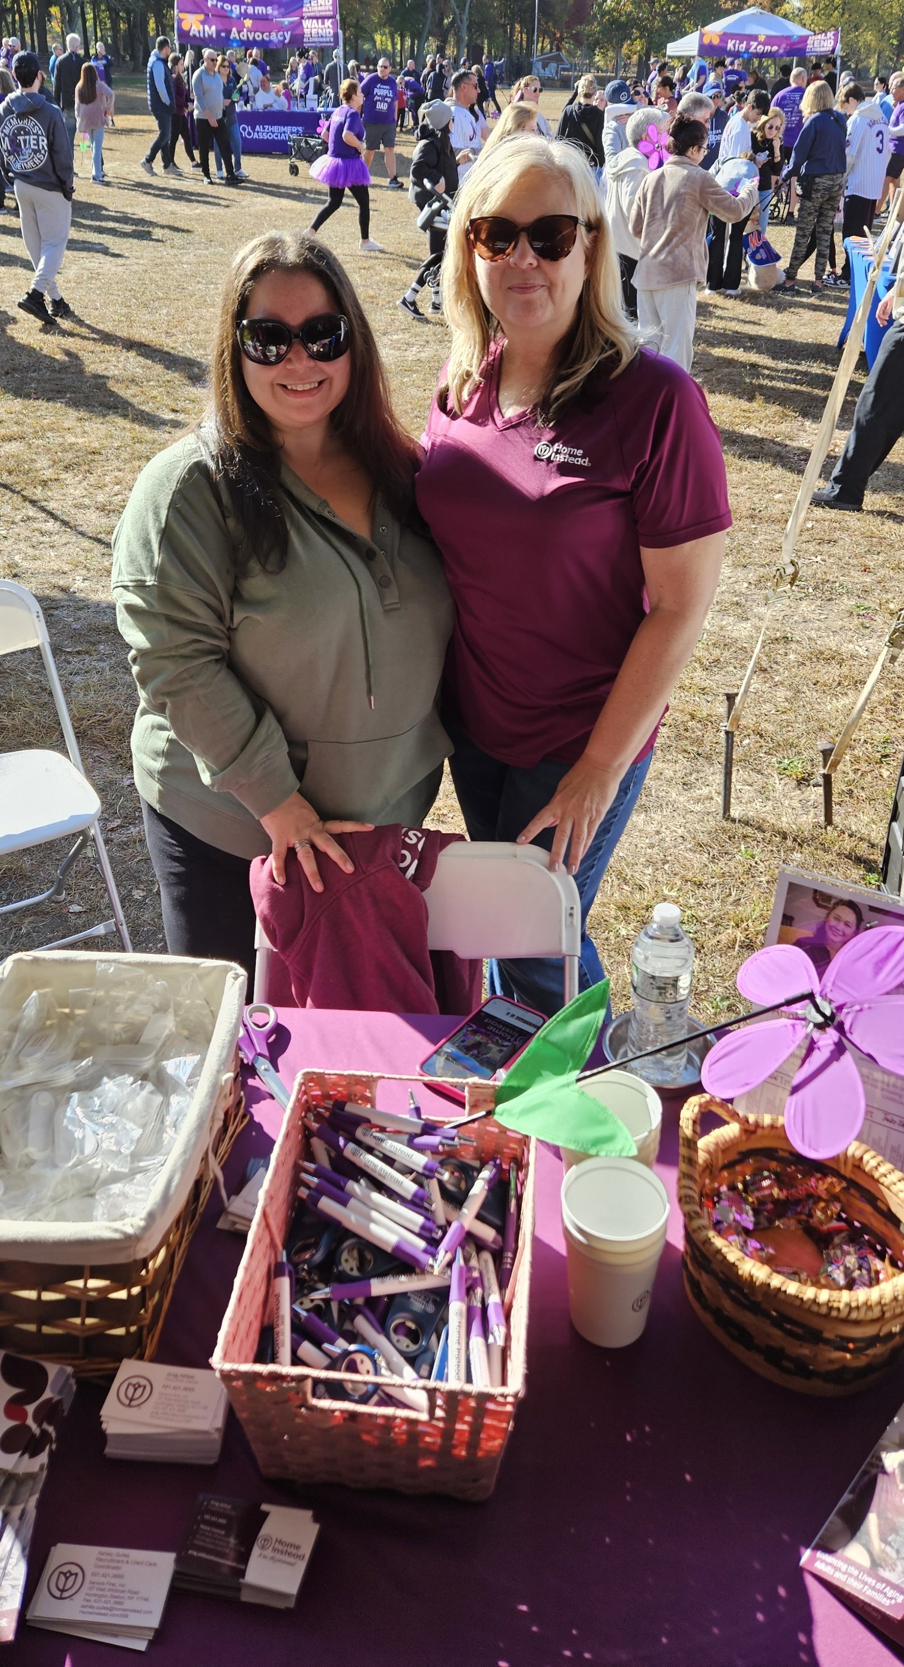
{"type": "MultiPolygon", "coordinates": [[[[596,897],[713,600],[731,525],[701,388],[638,348],[574,145],[493,145],[443,267],[451,353],[416,495],[456,623],[445,723],[471,839],[536,840],[596,897]],[[476,535],[479,528],[479,537],[476,535]]],[[[583,937],[581,985],[603,977],[583,937]]],[[[556,1012],[556,960],[491,989],[556,1012]]]]}

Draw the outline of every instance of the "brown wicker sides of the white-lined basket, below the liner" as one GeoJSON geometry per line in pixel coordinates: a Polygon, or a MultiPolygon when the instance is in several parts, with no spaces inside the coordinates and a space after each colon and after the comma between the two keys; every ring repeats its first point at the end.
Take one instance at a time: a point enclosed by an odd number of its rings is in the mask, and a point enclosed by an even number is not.
{"type": "Polygon", "coordinates": [[[0,1349],[70,1365],[77,1377],[113,1377],[122,1360],[153,1360],[191,1234],[215,1165],[221,1167],[248,1122],[238,1070],[226,1090],[223,1120],[188,1200],[148,1255],[110,1267],[0,1262],[0,1349]]]}

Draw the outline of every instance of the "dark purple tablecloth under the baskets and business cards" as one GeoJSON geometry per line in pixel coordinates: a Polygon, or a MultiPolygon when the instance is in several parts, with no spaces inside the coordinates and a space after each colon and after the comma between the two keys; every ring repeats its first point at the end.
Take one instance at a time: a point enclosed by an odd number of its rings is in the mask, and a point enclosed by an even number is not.
{"type": "MultiPolygon", "coordinates": [[[[411,1070],[441,1019],[281,1015],[283,1075],[301,1065],[411,1070]]],[[[226,1180],[278,1127],[255,1089],[253,1124],[226,1180]]],[[[676,1112],[658,1170],[674,1197],[676,1112]]],[[[772,1387],[701,1327],[681,1285],[673,1209],[648,1329],[626,1350],[583,1342],[568,1320],[558,1159],[539,1154],[528,1394],[491,1500],[263,1482],[235,1415],[220,1464],[103,1457],[102,1390],[80,1387],[42,1495],[28,1597],[52,1544],[175,1550],[201,1490],[283,1497],[321,1534],[298,1605],[170,1599],[151,1654],[168,1667],[887,1667],[902,1659],[797,1559],[904,1400],[897,1370],[852,1400],[772,1387]]],[[[201,1224],[158,1359],[213,1350],[241,1240],[201,1224]]],[[[20,1625],[17,1667],[112,1667],[112,1645],[20,1625]]],[[[128,1657],[127,1657],[128,1659],[128,1657]]]]}

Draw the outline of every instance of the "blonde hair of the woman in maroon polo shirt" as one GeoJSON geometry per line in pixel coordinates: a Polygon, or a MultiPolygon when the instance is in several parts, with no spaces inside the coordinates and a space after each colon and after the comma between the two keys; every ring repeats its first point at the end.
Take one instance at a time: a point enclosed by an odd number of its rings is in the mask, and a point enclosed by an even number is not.
{"type": "Polygon", "coordinates": [[[518,142],[509,138],[499,145],[486,145],[458,187],[443,258],[443,300],[453,345],[441,402],[448,397],[459,413],[483,380],[486,357],[501,333],[478,288],[474,260],[479,257],[471,252],[468,222],[486,213],[504,213],[509,192],[531,173],[544,175],[559,188],[563,213],[574,203],[584,222],[578,235],[586,240],[588,248],[578,327],[563,343],[538,398],[544,422],[553,422],[564,410],[601,362],[608,360],[609,375],[618,377],[638,352],[636,330],[624,313],[618,258],[603,202],[583,152],[564,140],[546,140],[533,133],[518,142]]]}

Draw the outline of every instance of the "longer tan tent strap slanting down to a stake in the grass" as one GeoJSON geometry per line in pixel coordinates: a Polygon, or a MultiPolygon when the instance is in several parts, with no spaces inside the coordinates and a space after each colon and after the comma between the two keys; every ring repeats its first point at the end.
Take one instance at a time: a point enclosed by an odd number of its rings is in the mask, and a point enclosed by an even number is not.
{"type": "MultiPolygon", "coordinates": [[[[723,817],[726,817],[726,818],[731,815],[731,773],[729,773],[729,768],[728,768],[728,747],[734,742],[734,735],[738,733],[738,728],[739,728],[739,723],[741,723],[741,713],[743,713],[743,710],[744,710],[744,707],[748,703],[748,695],[751,692],[751,683],[754,680],[754,673],[756,673],[759,653],[761,653],[762,643],[766,640],[766,632],[767,632],[767,627],[769,627],[769,618],[771,618],[772,608],[776,607],[777,602],[782,602],[786,597],[791,595],[791,592],[794,590],[794,585],[797,582],[799,563],[797,563],[797,558],[794,555],[794,550],[796,550],[796,545],[797,545],[797,537],[799,537],[799,532],[801,532],[801,525],[802,525],[804,515],[809,510],[811,498],[812,498],[816,483],[819,480],[819,473],[822,470],[822,463],[826,462],[826,457],[829,455],[829,447],[832,443],[832,435],[836,432],[836,423],[837,423],[837,418],[839,418],[839,413],[841,413],[841,407],[844,403],[844,395],[847,393],[847,385],[851,382],[851,377],[854,373],[854,365],[857,363],[857,358],[859,358],[859,353],[861,353],[864,330],[866,330],[866,322],[869,318],[869,310],[872,307],[872,297],[876,293],[876,283],[877,283],[877,278],[879,278],[879,272],[882,270],[882,262],[886,258],[886,250],[887,250],[887,247],[889,247],[889,243],[892,240],[892,235],[899,230],[899,227],[901,227],[902,222],[904,222],[904,192],[896,192],[894,203],[889,208],[889,217],[887,217],[887,222],[886,222],[886,230],[882,232],[882,235],[881,235],[881,238],[876,243],[876,248],[872,252],[872,267],[871,267],[871,272],[869,272],[869,277],[867,277],[866,290],[862,293],[861,305],[857,307],[857,312],[854,313],[854,320],[851,323],[851,332],[847,335],[847,342],[844,343],[844,352],[841,355],[841,362],[839,362],[839,367],[836,370],[832,387],[829,388],[829,398],[826,400],[826,408],[822,412],[822,420],[819,423],[819,432],[816,435],[816,440],[814,440],[814,445],[812,445],[812,452],[809,455],[807,467],[804,468],[804,478],[801,480],[801,485],[797,488],[797,497],[794,498],[794,507],[791,510],[791,515],[787,517],[787,525],[784,528],[784,538],[782,538],[782,543],[781,543],[781,563],[776,567],[776,572],[772,573],[772,582],[771,582],[769,592],[766,595],[766,618],[762,620],[762,628],[761,628],[759,637],[756,640],[754,652],[751,655],[748,670],[744,672],[744,677],[741,680],[741,688],[738,690],[738,698],[734,700],[733,710],[728,713],[728,717],[726,717],[726,720],[723,723],[723,742],[724,742],[724,748],[726,748],[726,763],[723,767],[723,817]]],[[[877,678],[877,673],[876,673],[876,678],[877,678]]],[[[869,695],[872,693],[874,687],[876,687],[876,683],[871,683],[869,692],[866,693],[866,700],[869,700],[869,695]]],[[[864,705],[866,705],[866,700],[864,700],[864,705]]],[[[854,727],[856,727],[857,720],[859,720],[859,713],[854,718],[854,727]]],[[[851,730],[851,733],[852,733],[852,730],[851,730]]],[[[846,742],[846,745],[847,745],[847,742],[846,742]]],[[[837,752],[837,747],[841,747],[841,740],[836,745],[836,752],[837,752]]],[[[839,753],[839,757],[841,757],[841,753],[839,753]]]]}

